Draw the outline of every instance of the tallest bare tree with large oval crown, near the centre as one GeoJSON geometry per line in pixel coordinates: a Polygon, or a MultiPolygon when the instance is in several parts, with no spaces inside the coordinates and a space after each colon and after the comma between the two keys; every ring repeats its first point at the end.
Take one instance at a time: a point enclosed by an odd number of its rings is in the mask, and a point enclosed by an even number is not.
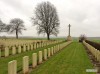
{"type": "Polygon", "coordinates": [[[34,25],[37,25],[38,34],[46,34],[50,40],[50,35],[57,36],[59,28],[59,18],[56,7],[50,2],[42,2],[35,9],[35,17],[32,18],[34,25]]]}

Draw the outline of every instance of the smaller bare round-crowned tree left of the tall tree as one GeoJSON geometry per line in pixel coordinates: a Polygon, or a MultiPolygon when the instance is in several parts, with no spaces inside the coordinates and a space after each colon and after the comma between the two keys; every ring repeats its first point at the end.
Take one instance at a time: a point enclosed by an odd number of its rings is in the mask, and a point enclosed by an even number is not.
{"type": "Polygon", "coordinates": [[[14,18],[10,21],[10,25],[8,27],[10,28],[10,33],[16,33],[16,38],[18,39],[18,34],[22,34],[22,30],[26,30],[25,26],[23,24],[23,20],[20,18],[14,18]]]}

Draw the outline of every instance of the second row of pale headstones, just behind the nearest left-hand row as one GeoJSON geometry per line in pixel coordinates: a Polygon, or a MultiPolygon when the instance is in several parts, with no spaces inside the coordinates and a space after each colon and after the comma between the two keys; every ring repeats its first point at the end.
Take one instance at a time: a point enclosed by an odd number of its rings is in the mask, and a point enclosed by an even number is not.
{"type": "Polygon", "coordinates": [[[4,55],[3,55],[4,57],[8,57],[9,55],[15,55],[17,53],[19,54],[19,53],[22,53],[22,52],[25,52],[25,51],[34,50],[34,49],[39,48],[39,47],[44,47],[44,46],[59,43],[59,42],[62,42],[62,41],[34,43],[34,44],[27,44],[27,45],[24,44],[24,45],[19,45],[17,47],[13,46],[11,48],[10,47],[5,47],[4,51],[1,51],[1,49],[0,49],[0,57],[2,55],[2,52],[4,52],[4,55]],[[10,52],[11,52],[11,54],[10,54],[10,52]]]}

